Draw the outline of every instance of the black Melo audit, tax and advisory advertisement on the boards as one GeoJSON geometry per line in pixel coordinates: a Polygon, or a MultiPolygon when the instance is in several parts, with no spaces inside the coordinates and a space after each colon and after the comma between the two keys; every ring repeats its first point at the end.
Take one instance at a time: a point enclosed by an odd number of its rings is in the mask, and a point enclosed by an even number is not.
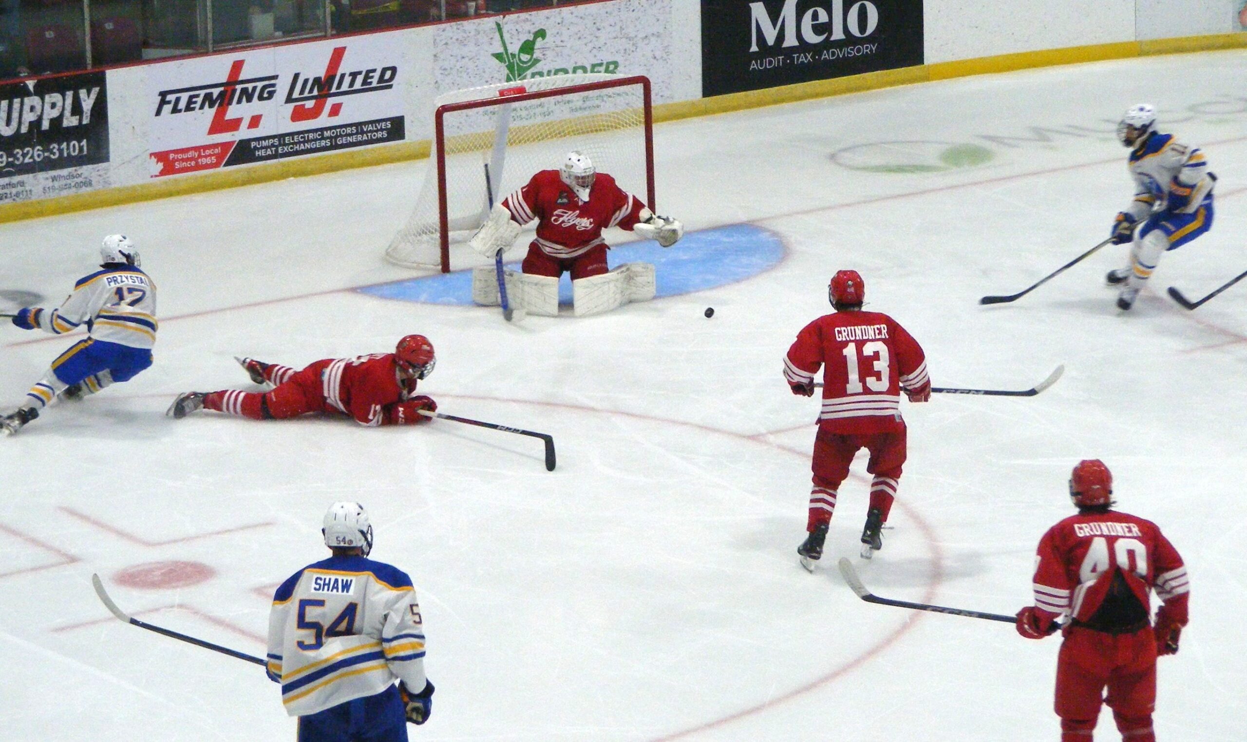
{"type": "Polygon", "coordinates": [[[922,63],[922,0],[702,0],[705,96],[922,63]]]}

